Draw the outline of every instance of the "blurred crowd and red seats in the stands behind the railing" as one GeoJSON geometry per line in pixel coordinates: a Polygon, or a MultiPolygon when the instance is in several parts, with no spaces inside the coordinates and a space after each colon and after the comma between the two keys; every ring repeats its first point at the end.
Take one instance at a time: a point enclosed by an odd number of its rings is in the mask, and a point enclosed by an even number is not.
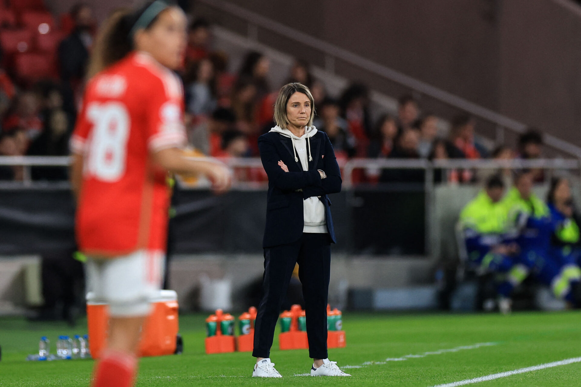
{"type": "MultiPolygon", "coordinates": [[[[42,0],[0,0],[0,155],[67,155],[68,139],[82,96],[84,74],[95,38],[92,9],[79,3],[58,18],[42,0]]],[[[278,88],[268,81],[270,61],[248,52],[238,71],[228,54],[211,49],[208,21],[189,26],[188,49],[180,75],[186,95],[185,121],[193,155],[256,157],[257,138],[274,126],[278,88]]],[[[539,158],[542,138],[530,129],[518,150],[487,149],[475,139],[476,121],[467,114],[451,120],[443,134],[441,118],[424,112],[412,95],[401,96],[397,115],[372,120],[370,90],[349,85],[338,98],[328,95],[309,63],[297,60],[287,81],[309,86],[315,99],[314,125],[325,131],[339,160],[354,157],[442,160],[449,158],[539,158]]],[[[423,171],[360,171],[360,182],[421,182],[423,171]]],[[[63,168],[33,168],[33,179],[66,179],[63,168]]],[[[510,178],[510,172],[505,174],[510,178]]],[[[239,179],[266,180],[262,171],[239,179]]],[[[471,170],[436,171],[436,181],[475,182],[471,170]]],[[[0,166],[0,179],[23,179],[22,167],[0,166]]],[[[542,173],[536,176],[543,179],[542,173]]]]}

